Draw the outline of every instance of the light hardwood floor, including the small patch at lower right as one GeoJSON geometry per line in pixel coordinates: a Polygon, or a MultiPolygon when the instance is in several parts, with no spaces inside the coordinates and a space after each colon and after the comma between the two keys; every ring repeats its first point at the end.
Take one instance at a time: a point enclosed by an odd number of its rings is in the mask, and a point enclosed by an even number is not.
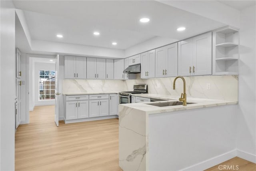
{"type": "MultiPolygon", "coordinates": [[[[256,171],[256,164],[235,157],[220,165],[256,171]]],[[[206,171],[220,171],[219,165],[206,171]]],[[[15,170],[122,171],[118,166],[118,119],[54,123],[54,106],[35,107],[30,123],[15,135],[15,170]]],[[[224,170],[222,170],[224,171],[224,170]]]]}

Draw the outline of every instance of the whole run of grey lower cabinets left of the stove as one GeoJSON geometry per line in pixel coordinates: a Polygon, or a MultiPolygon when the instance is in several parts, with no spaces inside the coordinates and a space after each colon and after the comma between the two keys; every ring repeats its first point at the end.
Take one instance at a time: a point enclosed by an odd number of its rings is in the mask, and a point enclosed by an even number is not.
{"type": "Polygon", "coordinates": [[[118,115],[118,94],[66,95],[65,123],[117,117],[114,115],[118,115]]]}

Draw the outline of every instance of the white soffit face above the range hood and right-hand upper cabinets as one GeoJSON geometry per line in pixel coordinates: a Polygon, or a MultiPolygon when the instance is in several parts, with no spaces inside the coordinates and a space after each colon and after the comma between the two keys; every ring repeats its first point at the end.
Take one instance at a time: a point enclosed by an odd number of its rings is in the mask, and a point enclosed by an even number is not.
{"type": "Polygon", "coordinates": [[[162,37],[156,36],[150,40],[147,40],[145,42],[142,42],[140,44],[136,44],[130,48],[127,48],[124,51],[124,56],[125,57],[133,56],[133,55],[140,54],[142,52],[146,52],[148,50],[152,50],[152,49],[158,48],[160,46],[171,44],[171,43],[177,42],[177,41],[178,40],[176,40],[176,39],[162,38],[162,37]]]}

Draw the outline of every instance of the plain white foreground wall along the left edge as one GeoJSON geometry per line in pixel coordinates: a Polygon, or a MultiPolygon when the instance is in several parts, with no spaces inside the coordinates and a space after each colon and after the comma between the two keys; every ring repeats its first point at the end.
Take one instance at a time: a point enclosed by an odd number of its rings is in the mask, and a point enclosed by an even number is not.
{"type": "Polygon", "coordinates": [[[15,10],[12,1],[0,3],[0,170],[14,170],[15,133],[15,10]]]}

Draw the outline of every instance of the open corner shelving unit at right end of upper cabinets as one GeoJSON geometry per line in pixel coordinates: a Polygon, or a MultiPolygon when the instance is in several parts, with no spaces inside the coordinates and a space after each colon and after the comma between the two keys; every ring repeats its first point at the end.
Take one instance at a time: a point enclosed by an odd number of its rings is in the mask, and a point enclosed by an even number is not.
{"type": "Polygon", "coordinates": [[[238,29],[226,26],[215,30],[212,41],[213,75],[238,75],[238,29]]]}

